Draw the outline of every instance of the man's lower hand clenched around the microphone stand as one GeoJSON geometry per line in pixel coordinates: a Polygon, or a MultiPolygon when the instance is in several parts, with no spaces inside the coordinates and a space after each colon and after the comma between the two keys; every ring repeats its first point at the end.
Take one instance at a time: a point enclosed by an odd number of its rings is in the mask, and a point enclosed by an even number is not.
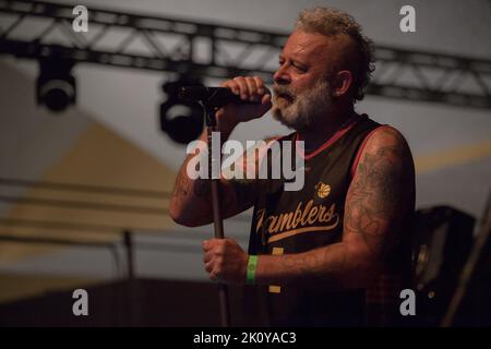
{"type": "Polygon", "coordinates": [[[205,270],[214,281],[243,284],[249,255],[232,239],[211,239],[203,242],[205,270]]]}

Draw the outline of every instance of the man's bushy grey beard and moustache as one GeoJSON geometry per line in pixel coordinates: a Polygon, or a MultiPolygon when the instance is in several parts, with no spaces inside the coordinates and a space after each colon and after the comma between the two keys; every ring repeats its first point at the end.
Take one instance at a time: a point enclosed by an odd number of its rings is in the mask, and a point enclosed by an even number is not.
{"type": "Polygon", "coordinates": [[[330,84],[324,79],[319,81],[314,87],[295,95],[288,86],[275,85],[273,96],[273,118],[287,128],[297,131],[307,131],[314,127],[319,120],[325,118],[333,99],[330,93],[330,84]],[[287,95],[294,100],[283,106],[278,101],[280,95],[287,95]]]}

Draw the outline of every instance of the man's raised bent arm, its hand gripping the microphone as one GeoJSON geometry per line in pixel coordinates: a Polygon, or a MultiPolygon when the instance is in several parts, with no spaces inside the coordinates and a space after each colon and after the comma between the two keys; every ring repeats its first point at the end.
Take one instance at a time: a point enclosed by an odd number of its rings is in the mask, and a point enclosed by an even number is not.
{"type": "MultiPolygon", "coordinates": [[[[243,100],[255,101],[255,104],[246,105],[230,104],[216,112],[217,127],[221,132],[220,139],[225,142],[238,123],[262,117],[272,104],[271,94],[259,76],[237,76],[224,82],[221,86],[230,88],[243,100]]],[[[200,140],[206,144],[206,133],[203,133],[200,140]]],[[[176,222],[188,227],[203,226],[213,221],[209,180],[193,180],[187,173],[188,164],[193,157],[193,154],[188,155],[179,170],[169,207],[170,217],[176,222]]],[[[243,157],[238,160],[238,164],[246,165],[247,161],[250,159],[243,157]]],[[[228,218],[251,207],[256,193],[255,186],[254,180],[221,178],[219,185],[221,216],[228,218]]]]}

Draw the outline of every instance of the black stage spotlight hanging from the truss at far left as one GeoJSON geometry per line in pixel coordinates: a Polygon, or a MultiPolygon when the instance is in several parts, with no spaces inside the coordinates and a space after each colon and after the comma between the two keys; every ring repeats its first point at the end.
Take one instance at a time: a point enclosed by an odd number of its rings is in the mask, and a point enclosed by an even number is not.
{"type": "Polygon", "coordinates": [[[36,100],[49,110],[60,112],[75,103],[75,79],[71,75],[73,61],[48,58],[39,61],[36,100]]]}

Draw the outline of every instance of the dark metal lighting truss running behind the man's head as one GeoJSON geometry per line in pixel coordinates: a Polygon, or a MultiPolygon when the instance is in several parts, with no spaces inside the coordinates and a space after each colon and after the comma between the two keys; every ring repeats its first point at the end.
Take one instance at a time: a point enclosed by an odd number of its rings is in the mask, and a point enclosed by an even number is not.
{"type": "MultiPolygon", "coordinates": [[[[73,7],[0,0],[0,53],[208,77],[256,74],[267,82],[287,34],[88,9],[88,33],[72,29],[73,7]]],[[[491,60],[376,47],[367,93],[411,101],[491,108],[491,60]]]]}

